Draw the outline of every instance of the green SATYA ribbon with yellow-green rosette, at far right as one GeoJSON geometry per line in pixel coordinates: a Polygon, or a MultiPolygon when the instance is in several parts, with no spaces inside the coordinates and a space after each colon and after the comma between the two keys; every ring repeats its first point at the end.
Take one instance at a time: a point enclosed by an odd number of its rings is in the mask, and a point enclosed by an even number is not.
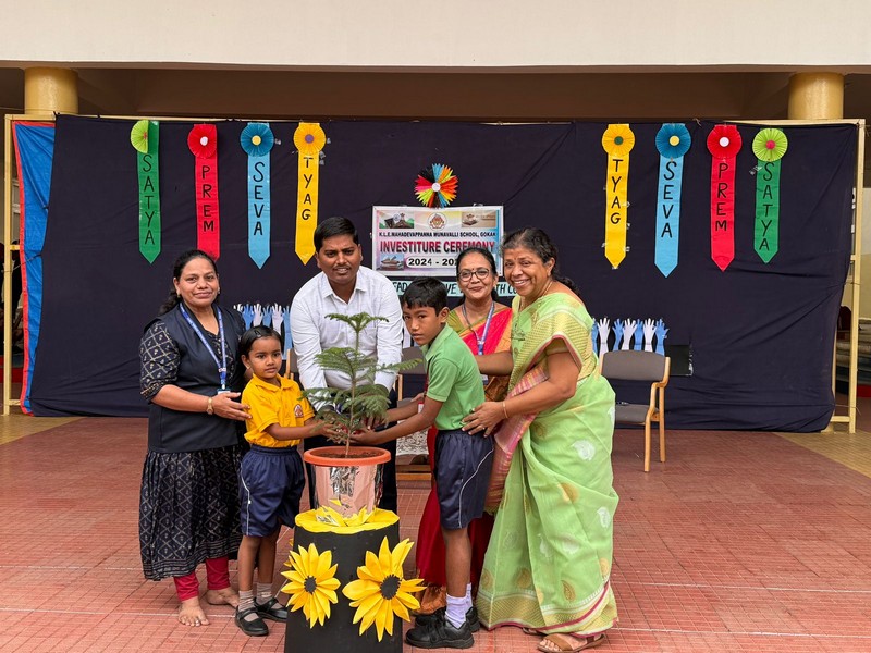
{"type": "Polygon", "coordinates": [[[753,137],[758,159],[756,175],[756,220],[753,249],[765,263],[780,247],[781,232],[781,159],[789,143],[782,130],[766,127],[753,137]]]}

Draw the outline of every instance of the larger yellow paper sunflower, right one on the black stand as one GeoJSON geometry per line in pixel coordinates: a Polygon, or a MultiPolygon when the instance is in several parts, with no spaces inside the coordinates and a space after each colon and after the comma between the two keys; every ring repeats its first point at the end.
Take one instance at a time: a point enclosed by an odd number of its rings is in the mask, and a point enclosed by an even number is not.
{"type": "Polygon", "coordinates": [[[342,589],[351,599],[351,607],[357,608],[354,624],[360,623],[360,634],[375,624],[380,642],[385,630],[393,634],[394,615],[409,621],[408,611],[420,607],[414,593],[424,589],[424,581],[403,577],[402,565],[410,550],[412,542],[406,539],[391,551],[384,538],[377,556],[371,551],[366,552],[366,564],[357,567],[357,580],[342,589]]]}

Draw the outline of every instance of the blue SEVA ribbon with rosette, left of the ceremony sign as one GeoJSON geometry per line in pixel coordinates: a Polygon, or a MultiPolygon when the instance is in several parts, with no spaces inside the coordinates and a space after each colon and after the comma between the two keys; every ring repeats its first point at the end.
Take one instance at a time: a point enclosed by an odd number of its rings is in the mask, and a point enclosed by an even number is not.
{"type": "Polygon", "coordinates": [[[248,123],[238,137],[248,155],[248,256],[262,268],[270,255],[270,156],[275,137],[267,123],[248,123]]]}

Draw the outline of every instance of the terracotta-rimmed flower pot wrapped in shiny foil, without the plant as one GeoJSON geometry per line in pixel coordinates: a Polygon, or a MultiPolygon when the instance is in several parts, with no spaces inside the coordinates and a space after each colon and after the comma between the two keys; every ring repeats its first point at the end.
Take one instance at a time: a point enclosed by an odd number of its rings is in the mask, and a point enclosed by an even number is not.
{"type": "Polygon", "coordinates": [[[303,459],[315,467],[312,508],[329,506],[348,517],[360,508],[371,512],[378,505],[389,452],[352,446],[345,456],[344,446],[321,446],[305,452],[303,459]]]}

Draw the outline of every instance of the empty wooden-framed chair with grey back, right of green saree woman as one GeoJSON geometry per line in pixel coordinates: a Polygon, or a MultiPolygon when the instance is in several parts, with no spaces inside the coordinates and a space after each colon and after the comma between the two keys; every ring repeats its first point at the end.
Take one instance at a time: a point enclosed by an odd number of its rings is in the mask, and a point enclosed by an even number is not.
{"type": "Polygon", "coordinates": [[[645,471],[650,471],[651,422],[659,424],[660,461],[665,463],[665,386],[671,362],[667,356],[636,349],[605,352],[599,359],[599,371],[605,379],[651,382],[648,404],[617,401],[614,416],[616,423],[645,426],[645,471]]]}

